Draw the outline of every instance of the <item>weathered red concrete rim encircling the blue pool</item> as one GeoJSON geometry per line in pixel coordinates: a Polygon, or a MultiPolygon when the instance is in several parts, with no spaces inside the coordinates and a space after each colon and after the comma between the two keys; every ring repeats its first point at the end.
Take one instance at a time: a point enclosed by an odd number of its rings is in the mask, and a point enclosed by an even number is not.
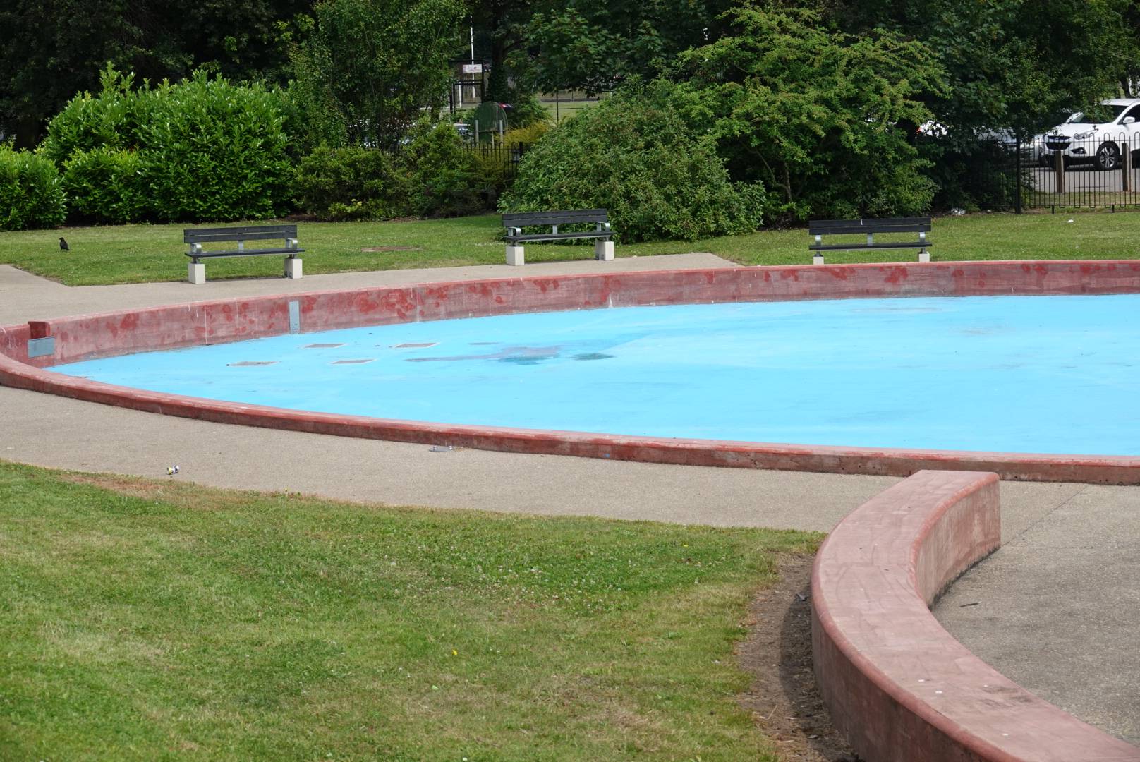
{"type": "Polygon", "coordinates": [[[148,392],[42,370],[51,364],[145,349],[278,335],[292,332],[294,319],[298,331],[308,333],[408,321],[644,305],[1137,292],[1140,292],[1140,262],[1135,261],[658,270],[308,292],[40,319],[0,327],[0,382],[223,423],[516,453],[879,476],[909,476],[921,469],[986,470],[1005,479],[1140,484],[1140,457],[1134,456],[732,443],[386,421],[148,392]],[[28,357],[30,341],[44,354],[28,357]]]}

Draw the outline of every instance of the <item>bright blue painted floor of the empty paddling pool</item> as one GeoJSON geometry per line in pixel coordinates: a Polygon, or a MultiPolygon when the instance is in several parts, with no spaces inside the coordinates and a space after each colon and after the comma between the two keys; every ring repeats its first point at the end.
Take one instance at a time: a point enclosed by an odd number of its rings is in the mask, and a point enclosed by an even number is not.
{"type": "Polygon", "coordinates": [[[52,370],[388,420],[1135,455],[1138,316],[1134,294],[678,305],[286,334],[52,370]]]}

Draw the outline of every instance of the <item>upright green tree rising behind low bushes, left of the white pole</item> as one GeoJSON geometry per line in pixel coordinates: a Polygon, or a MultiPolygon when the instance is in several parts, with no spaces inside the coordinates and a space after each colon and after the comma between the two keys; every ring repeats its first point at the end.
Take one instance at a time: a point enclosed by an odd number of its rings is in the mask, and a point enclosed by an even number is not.
{"type": "Polygon", "coordinates": [[[294,97],[310,145],[394,145],[446,103],[461,0],[324,0],[293,51],[294,97]]]}

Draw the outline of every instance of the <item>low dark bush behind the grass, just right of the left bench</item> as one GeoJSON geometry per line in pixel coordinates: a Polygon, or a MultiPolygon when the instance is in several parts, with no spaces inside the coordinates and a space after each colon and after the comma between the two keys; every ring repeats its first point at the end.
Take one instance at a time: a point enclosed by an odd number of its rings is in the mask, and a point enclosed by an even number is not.
{"type": "Polygon", "coordinates": [[[327,220],[389,219],[410,206],[407,176],[373,148],[317,148],[298,167],[298,188],[301,208],[327,220]]]}

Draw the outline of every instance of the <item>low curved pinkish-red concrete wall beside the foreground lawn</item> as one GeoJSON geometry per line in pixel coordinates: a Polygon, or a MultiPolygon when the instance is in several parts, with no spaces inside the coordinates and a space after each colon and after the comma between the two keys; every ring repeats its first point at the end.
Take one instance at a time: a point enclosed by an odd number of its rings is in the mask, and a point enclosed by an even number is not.
{"type": "Polygon", "coordinates": [[[815,676],[871,762],[1140,762],[983,663],[929,603],[1001,544],[994,473],[921,471],[863,504],[812,575],[815,676]]]}

